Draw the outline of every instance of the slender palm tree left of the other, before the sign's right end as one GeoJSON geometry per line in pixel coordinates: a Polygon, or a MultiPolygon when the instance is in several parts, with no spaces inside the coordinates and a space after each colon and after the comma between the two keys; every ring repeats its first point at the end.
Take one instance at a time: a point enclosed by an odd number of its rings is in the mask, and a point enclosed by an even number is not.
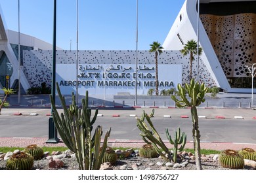
{"type": "Polygon", "coordinates": [[[156,59],[156,95],[158,95],[158,55],[160,55],[163,52],[163,47],[161,46],[161,43],[158,41],[154,41],[152,44],[150,44],[151,48],[149,52],[155,52],[155,59],[156,59]]]}

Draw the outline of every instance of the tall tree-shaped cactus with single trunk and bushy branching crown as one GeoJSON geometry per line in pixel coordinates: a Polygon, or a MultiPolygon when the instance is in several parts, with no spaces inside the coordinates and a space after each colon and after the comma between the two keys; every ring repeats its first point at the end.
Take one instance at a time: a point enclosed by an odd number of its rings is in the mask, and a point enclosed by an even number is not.
{"type": "Polygon", "coordinates": [[[171,95],[171,99],[175,101],[177,107],[191,107],[192,123],[193,123],[193,139],[194,139],[194,150],[196,156],[196,169],[202,169],[201,163],[201,153],[200,153],[200,131],[198,127],[198,107],[201,103],[205,101],[205,93],[207,93],[208,88],[204,84],[199,84],[195,82],[194,78],[190,80],[190,84],[186,83],[184,87],[181,84],[178,84],[179,97],[177,99],[175,95],[171,95]],[[186,93],[190,97],[190,101],[186,98],[186,93]]]}

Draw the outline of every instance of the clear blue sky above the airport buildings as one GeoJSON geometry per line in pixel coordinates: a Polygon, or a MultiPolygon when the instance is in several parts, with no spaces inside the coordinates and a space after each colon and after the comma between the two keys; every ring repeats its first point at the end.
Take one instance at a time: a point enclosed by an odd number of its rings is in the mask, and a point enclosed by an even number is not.
{"type": "MultiPolygon", "coordinates": [[[[163,44],[185,0],[139,0],[139,50],[163,44]]],[[[20,0],[20,33],[53,43],[53,0],[20,0]]],[[[76,2],[57,0],[56,45],[76,50],[76,2]]],[[[79,50],[136,50],[136,0],[79,0],[79,50]]],[[[18,0],[0,0],[18,31],[18,0]]]]}

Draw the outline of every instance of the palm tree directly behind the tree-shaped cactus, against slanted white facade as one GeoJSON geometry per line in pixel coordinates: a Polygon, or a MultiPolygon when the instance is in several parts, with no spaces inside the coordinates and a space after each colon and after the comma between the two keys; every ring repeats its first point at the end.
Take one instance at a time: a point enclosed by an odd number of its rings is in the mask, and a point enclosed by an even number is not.
{"type": "Polygon", "coordinates": [[[194,55],[198,54],[200,56],[202,55],[202,51],[203,49],[201,48],[201,46],[199,46],[198,48],[198,44],[193,39],[188,41],[183,47],[183,49],[181,50],[181,53],[183,54],[183,56],[190,54],[190,73],[189,73],[190,80],[192,79],[192,62],[195,59],[194,55]]]}

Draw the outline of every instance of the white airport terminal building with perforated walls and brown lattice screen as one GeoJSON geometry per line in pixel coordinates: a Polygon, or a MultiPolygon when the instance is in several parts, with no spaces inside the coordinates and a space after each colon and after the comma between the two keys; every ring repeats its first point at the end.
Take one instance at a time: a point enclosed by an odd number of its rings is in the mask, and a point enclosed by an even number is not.
{"type": "MultiPolygon", "coordinates": [[[[186,0],[163,42],[158,58],[160,90],[176,88],[188,82],[189,56],[181,50],[188,40],[197,40],[199,32],[203,54],[192,65],[192,76],[206,86],[218,86],[226,92],[251,92],[251,74],[245,65],[256,63],[256,1],[186,0]]],[[[7,22],[8,23],[8,22],[7,22]]],[[[18,33],[5,28],[0,16],[0,88],[10,76],[11,88],[18,83],[18,33]]],[[[20,34],[21,77],[24,92],[28,88],[51,86],[53,46],[29,35],[20,34]]],[[[63,93],[74,92],[78,78],[79,94],[135,93],[135,50],[79,50],[78,75],[76,51],[56,48],[56,81],[63,93]]],[[[155,87],[155,58],[148,50],[139,50],[137,86],[143,95],[155,87]]],[[[256,81],[255,81],[256,82],[256,81]]]]}

